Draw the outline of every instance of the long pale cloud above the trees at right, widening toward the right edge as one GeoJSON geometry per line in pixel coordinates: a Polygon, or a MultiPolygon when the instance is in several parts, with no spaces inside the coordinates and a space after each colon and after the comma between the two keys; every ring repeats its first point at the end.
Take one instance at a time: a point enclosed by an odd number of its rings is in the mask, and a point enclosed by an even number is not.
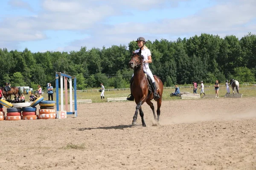
{"type": "Polygon", "coordinates": [[[189,17],[165,19],[148,24],[120,23],[105,28],[106,34],[186,34],[198,32],[248,31],[250,23],[256,17],[255,2],[223,3],[200,11],[189,17]],[[249,25],[244,27],[244,25],[249,25]],[[145,31],[146,30],[146,31],[145,31]]]}

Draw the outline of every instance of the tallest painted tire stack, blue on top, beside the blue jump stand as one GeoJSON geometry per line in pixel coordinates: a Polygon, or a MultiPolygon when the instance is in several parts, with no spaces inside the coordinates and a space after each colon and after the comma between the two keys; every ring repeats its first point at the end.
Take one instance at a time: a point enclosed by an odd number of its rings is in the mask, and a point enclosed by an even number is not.
{"type": "Polygon", "coordinates": [[[55,113],[55,101],[52,100],[44,100],[39,102],[40,109],[38,118],[39,119],[55,119],[56,113],[55,113]]]}

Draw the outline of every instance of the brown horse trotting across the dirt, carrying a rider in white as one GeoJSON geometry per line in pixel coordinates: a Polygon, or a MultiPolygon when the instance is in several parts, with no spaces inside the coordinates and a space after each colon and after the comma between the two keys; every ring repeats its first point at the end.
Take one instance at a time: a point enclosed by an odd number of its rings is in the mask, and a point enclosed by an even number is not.
{"type": "Polygon", "coordinates": [[[157,119],[157,123],[159,124],[159,116],[160,116],[160,107],[162,103],[162,94],[163,94],[163,82],[154,75],[154,79],[156,82],[156,86],[158,86],[157,93],[161,97],[157,99],[157,117],[154,111],[154,105],[151,102],[153,97],[153,93],[149,92],[148,89],[148,80],[143,72],[143,59],[144,57],[139,53],[134,53],[129,62],[130,68],[134,69],[134,81],[131,85],[131,94],[133,94],[135,102],[137,104],[136,111],[133,117],[132,125],[136,125],[138,111],[140,111],[140,116],[142,120],[142,125],[145,127],[145,121],[143,119],[144,113],[142,111],[141,105],[146,102],[153,111],[154,119],[157,119]]]}

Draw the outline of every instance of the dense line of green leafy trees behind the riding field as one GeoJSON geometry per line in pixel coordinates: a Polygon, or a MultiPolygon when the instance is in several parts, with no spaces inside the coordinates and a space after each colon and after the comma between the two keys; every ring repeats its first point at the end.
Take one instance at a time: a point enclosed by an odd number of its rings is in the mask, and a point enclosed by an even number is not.
{"type": "MultiPolygon", "coordinates": [[[[214,83],[226,79],[254,82],[256,76],[256,35],[248,33],[240,40],[229,35],[201,34],[189,39],[178,38],[147,41],[153,63],[151,71],[165,86],[191,84],[192,81],[214,83]]],[[[133,71],[128,68],[132,51],[137,43],[112,45],[87,50],[67,52],[32,53],[8,51],[0,48],[0,82],[11,82],[12,86],[45,86],[55,80],[55,72],[77,77],[78,89],[99,87],[129,88],[133,71]]],[[[54,84],[54,83],[52,83],[54,84]]]]}

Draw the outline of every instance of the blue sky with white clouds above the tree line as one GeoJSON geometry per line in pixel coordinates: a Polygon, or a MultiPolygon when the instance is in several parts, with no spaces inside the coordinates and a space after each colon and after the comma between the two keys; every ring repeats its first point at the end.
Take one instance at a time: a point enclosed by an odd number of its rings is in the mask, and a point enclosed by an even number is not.
{"type": "Polygon", "coordinates": [[[256,0],[0,0],[0,48],[79,51],[146,40],[256,34],[256,0]]]}

